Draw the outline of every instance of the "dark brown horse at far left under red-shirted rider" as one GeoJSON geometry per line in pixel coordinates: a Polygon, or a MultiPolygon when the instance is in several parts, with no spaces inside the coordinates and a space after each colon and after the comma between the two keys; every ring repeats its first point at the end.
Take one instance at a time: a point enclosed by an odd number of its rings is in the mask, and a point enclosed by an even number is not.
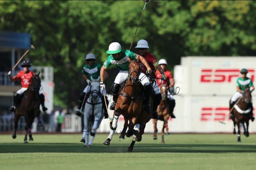
{"type": "Polygon", "coordinates": [[[22,98],[19,105],[17,105],[14,117],[14,132],[12,138],[16,138],[16,130],[18,127],[18,121],[21,116],[25,117],[26,127],[25,127],[25,138],[24,143],[27,143],[27,135],[29,134],[29,140],[33,140],[31,127],[36,116],[40,115],[40,99],[39,90],[41,87],[41,79],[39,74],[34,74],[31,79],[31,84],[29,88],[24,92],[24,97],[22,98]]]}

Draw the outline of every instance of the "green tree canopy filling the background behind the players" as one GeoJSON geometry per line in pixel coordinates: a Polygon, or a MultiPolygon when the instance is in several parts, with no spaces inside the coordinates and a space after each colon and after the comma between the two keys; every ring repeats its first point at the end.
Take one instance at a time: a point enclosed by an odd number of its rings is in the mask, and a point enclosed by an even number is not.
{"type": "MultiPolygon", "coordinates": [[[[71,106],[86,85],[81,75],[86,54],[94,53],[102,64],[111,42],[128,49],[143,6],[143,1],[0,1],[0,30],[31,35],[32,64],[54,67],[55,105],[71,106]]],[[[255,1],[150,1],[132,51],[145,39],[148,51],[167,59],[169,69],[187,55],[254,56],[255,14],[255,1]]]]}

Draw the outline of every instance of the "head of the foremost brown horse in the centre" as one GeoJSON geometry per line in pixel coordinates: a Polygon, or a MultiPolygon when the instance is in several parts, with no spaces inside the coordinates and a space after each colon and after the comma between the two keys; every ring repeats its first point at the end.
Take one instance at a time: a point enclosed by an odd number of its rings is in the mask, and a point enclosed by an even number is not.
{"type": "Polygon", "coordinates": [[[128,68],[128,77],[132,83],[138,82],[140,75],[140,65],[137,61],[131,61],[128,68]]]}

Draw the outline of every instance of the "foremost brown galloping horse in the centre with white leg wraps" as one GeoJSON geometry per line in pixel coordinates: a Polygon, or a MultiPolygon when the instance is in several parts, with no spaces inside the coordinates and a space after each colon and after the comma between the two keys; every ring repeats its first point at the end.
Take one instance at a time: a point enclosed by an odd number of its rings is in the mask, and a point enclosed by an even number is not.
{"type": "MultiPolygon", "coordinates": [[[[130,60],[129,60],[130,61],[130,60]]],[[[139,81],[140,75],[140,66],[137,61],[130,61],[128,68],[128,78],[124,85],[121,87],[117,103],[115,106],[113,123],[110,123],[110,128],[112,129],[107,140],[103,143],[109,145],[114,135],[114,132],[117,128],[117,121],[120,115],[123,115],[125,118],[126,128],[129,122],[129,129],[126,133],[127,137],[132,136],[133,134],[139,138],[140,134],[140,124],[141,115],[144,113],[142,111],[143,107],[143,95],[141,93],[141,83],[139,81]],[[135,130],[133,129],[135,127],[135,130]]],[[[143,127],[142,127],[143,128],[143,127]]]]}

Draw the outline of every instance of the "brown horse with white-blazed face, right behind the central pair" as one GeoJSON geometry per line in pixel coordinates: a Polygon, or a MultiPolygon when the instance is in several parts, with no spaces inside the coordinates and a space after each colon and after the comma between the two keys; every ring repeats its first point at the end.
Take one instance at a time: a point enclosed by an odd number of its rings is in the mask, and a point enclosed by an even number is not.
{"type": "Polygon", "coordinates": [[[168,132],[168,120],[169,120],[169,113],[170,113],[170,106],[168,104],[168,100],[167,100],[167,91],[168,88],[164,85],[162,86],[162,88],[160,89],[161,94],[162,94],[162,100],[161,103],[158,105],[157,108],[157,112],[159,115],[159,119],[153,119],[153,124],[154,124],[154,134],[153,134],[153,139],[157,139],[157,120],[161,120],[164,122],[163,124],[163,128],[161,131],[161,136],[162,136],[162,140],[161,143],[165,143],[164,142],[164,128],[166,129],[166,134],[169,134],[168,132]]]}

